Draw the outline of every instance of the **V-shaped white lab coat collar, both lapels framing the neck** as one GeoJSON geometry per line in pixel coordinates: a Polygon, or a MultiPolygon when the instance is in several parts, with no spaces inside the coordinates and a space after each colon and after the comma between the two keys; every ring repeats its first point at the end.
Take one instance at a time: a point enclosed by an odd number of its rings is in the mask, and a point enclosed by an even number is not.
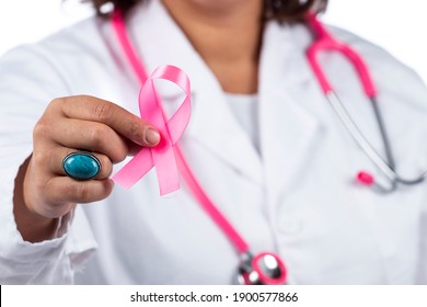
{"type": "MultiPolygon", "coordinates": [[[[264,170],[258,152],[232,114],[216,77],[161,1],[138,5],[128,23],[130,36],[136,42],[137,52],[142,55],[148,71],[170,64],[181,67],[191,79],[193,109],[184,138],[197,141],[238,173],[263,183],[264,170]]],[[[314,128],[313,118],[286,93],[288,87],[309,78],[304,69],[297,75],[289,72],[299,71],[292,69],[296,57],[301,56],[295,49],[304,44],[303,39],[309,39],[307,35],[292,33],[290,27],[270,22],[265,27],[262,49],[258,93],[262,156],[268,164],[267,171],[274,177],[279,170],[290,173],[291,163],[297,162],[296,155],[301,156],[307,136],[314,128]],[[280,113],[276,113],[277,104],[281,105],[280,113]],[[278,118],[273,120],[274,117],[278,118]],[[301,141],[296,143],[299,137],[301,141]],[[274,170],[275,167],[277,170],[274,170]]],[[[301,64],[301,59],[298,64],[301,64]]]]}

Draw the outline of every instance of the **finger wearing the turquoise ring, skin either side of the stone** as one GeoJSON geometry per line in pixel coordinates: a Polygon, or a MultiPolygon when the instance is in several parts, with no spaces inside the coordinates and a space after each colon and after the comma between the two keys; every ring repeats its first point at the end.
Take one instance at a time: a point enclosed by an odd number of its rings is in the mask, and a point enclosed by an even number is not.
{"type": "MultiPolygon", "coordinates": [[[[79,150],[66,147],[56,147],[51,149],[50,159],[49,159],[49,171],[56,175],[66,175],[64,170],[64,159],[72,154],[78,152],[79,150]]],[[[109,178],[113,172],[113,163],[109,158],[105,155],[91,152],[101,163],[100,173],[94,178],[96,180],[105,180],[109,178]]]]}

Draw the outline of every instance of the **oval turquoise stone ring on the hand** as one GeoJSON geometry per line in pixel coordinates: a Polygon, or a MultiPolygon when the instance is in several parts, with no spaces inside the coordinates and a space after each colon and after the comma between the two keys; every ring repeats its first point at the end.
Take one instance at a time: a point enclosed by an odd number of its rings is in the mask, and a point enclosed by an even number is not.
{"type": "Polygon", "coordinates": [[[101,162],[91,152],[76,151],[64,158],[62,169],[71,179],[91,180],[101,172],[101,162]]]}

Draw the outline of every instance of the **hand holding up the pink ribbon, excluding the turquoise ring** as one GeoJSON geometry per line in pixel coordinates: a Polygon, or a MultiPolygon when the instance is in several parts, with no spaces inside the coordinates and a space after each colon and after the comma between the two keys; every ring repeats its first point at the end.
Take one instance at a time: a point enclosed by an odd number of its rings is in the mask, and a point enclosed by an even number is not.
{"type": "MultiPolygon", "coordinates": [[[[24,206],[33,216],[53,219],[77,203],[103,200],[113,190],[108,179],[113,163],[123,161],[132,148],[155,146],[159,140],[155,128],[112,102],[85,95],[56,99],[34,127],[33,155],[23,179],[24,206]],[[62,159],[77,150],[91,151],[101,161],[96,178],[76,181],[65,174],[62,159]]],[[[15,209],[19,228],[16,213],[22,212],[15,209]]]]}

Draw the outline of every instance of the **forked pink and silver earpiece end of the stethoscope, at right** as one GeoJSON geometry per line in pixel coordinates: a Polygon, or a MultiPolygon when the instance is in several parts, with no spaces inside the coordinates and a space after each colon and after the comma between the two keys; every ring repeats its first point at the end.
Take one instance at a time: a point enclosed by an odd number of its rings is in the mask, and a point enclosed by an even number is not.
{"type": "Polygon", "coordinates": [[[308,14],[307,21],[311,27],[315,42],[307,50],[307,56],[310,66],[313,69],[315,77],[325,94],[327,101],[334,109],[335,113],[339,117],[341,122],[351,135],[353,139],[358,144],[365,155],[379,168],[381,173],[388,178],[389,185],[385,186],[376,181],[373,175],[368,171],[359,171],[356,175],[356,180],[363,185],[372,186],[377,192],[391,193],[397,189],[397,184],[415,185],[422,183],[427,178],[427,171],[422,173],[415,179],[404,179],[395,171],[395,162],[392,154],[392,149],[389,141],[389,136],[384,126],[384,121],[381,116],[380,109],[377,102],[377,89],[372,82],[372,78],[369,73],[368,67],[362,58],[348,45],[338,42],[332,34],[320,23],[314,14],[308,14]],[[369,98],[378,127],[380,130],[382,144],[384,147],[385,159],[383,159],[373,146],[367,140],[355,122],[351,120],[347,110],[344,107],[338,95],[333,90],[331,83],[326,79],[318,59],[316,55],[322,50],[335,50],[342,53],[354,66],[356,72],[359,76],[360,82],[363,87],[365,94],[369,98]]]}

